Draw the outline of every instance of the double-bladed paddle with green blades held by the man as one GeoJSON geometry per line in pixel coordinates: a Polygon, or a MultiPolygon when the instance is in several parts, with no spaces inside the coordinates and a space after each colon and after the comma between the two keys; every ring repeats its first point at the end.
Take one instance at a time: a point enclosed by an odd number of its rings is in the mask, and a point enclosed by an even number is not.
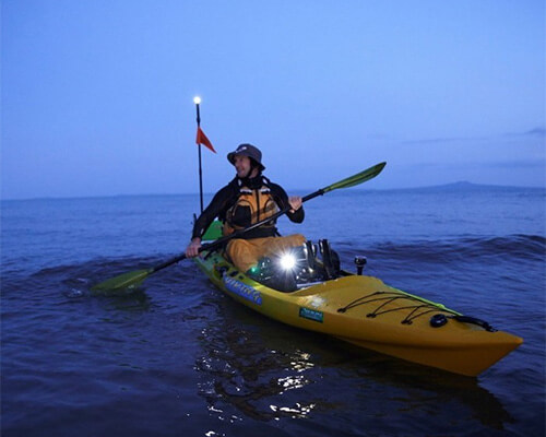
{"type": "MultiPolygon", "coordinates": [[[[380,163],[377,164],[368,169],[365,169],[364,172],[357,173],[356,175],[349,176],[348,178],[345,178],[343,180],[340,180],[339,182],[329,185],[328,187],[321,188],[320,190],[317,190],[310,194],[307,194],[301,199],[302,202],[307,202],[308,200],[311,200],[318,196],[325,194],[327,192],[337,190],[340,188],[348,188],[348,187],[354,187],[356,185],[366,182],[367,180],[370,180],[375,178],[377,175],[381,173],[383,167],[385,166],[387,163],[380,163]]],[[[238,238],[242,236],[244,234],[248,233],[249,231],[256,229],[257,227],[262,226],[265,223],[271,222],[272,220],[278,218],[281,215],[286,214],[290,210],[290,206],[285,208],[282,211],[278,211],[275,213],[273,216],[270,216],[265,220],[262,220],[261,222],[258,222],[249,227],[246,227],[245,229],[237,231],[230,235],[226,235],[224,237],[221,237],[212,243],[205,244],[201,246],[199,251],[203,250],[211,250],[215,249],[217,247],[221,247],[225,245],[227,241],[229,241],[233,238],[238,238]]],[[[107,281],[100,282],[99,284],[96,284],[93,286],[91,290],[95,292],[106,292],[110,290],[120,290],[120,288],[136,288],[147,276],[150,276],[152,273],[155,273],[162,269],[165,269],[166,267],[173,265],[179,261],[182,261],[186,259],[186,253],[181,253],[177,257],[170,258],[169,260],[154,265],[150,269],[143,269],[143,270],[135,270],[133,272],[128,272],[120,274],[118,276],[111,277],[107,281]]]]}

